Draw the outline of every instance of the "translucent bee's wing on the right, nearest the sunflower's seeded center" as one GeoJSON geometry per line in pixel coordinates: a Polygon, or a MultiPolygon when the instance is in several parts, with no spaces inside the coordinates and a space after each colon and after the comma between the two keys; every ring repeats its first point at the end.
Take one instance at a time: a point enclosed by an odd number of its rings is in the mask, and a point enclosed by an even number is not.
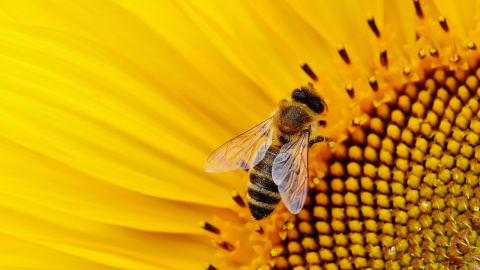
{"type": "Polygon", "coordinates": [[[283,203],[294,215],[302,210],[307,195],[309,134],[305,131],[296,141],[284,144],[273,161],[273,181],[283,203]]]}

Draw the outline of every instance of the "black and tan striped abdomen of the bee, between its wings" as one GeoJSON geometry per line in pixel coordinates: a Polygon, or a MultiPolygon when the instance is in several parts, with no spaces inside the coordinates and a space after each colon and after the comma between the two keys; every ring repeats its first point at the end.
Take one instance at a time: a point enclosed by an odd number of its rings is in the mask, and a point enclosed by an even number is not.
{"type": "Polygon", "coordinates": [[[270,146],[263,160],[250,170],[247,202],[256,220],[270,215],[280,202],[278,187],[272,179],[272,164],[279,152],[277,146],[270,146]]]}

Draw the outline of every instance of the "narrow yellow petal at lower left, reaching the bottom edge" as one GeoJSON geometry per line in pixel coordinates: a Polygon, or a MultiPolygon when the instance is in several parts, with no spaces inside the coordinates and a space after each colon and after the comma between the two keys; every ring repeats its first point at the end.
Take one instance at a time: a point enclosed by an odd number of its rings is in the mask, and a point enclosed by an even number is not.
{"type": "Polygon", "coordinates": [[[194,236],[92,222],[8,194],[0,196],[0,204],[8,217],[0,224],[3,234],[119,269],[168,269],[185,254],[191,254],[186,263],[193,267],[210,249],[194,236]]]}

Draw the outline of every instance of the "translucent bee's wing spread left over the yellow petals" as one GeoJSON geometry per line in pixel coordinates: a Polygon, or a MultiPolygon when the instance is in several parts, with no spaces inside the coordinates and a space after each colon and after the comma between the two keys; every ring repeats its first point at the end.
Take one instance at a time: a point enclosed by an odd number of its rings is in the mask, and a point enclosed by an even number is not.
{"type": "Polygon", "coordinates": [[[273,118],[238,135],[213,152],[205,163],[207,172],[225,172],[257,165],[272,144],[273,118]]]}

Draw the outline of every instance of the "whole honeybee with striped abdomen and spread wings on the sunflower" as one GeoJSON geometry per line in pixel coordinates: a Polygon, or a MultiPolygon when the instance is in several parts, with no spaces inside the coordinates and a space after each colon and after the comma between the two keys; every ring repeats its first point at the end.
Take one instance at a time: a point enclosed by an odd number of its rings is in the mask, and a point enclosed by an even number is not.
{"type": "Polygon", "coordinates": [[[249,170],[247,203],[255,220],[270,215],[283,201],[290,213],[303,208],[308,190],[308,148],[331,138],[317,136],[327,104],[312,84],[295,89],[270,118],[215,150],[207,172],[249,170]]]}

